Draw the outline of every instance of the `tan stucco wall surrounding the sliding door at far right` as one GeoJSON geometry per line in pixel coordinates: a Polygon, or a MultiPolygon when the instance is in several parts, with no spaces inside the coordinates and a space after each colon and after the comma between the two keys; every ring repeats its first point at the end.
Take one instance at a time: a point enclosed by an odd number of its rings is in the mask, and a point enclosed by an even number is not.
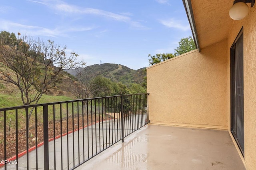
{"type": "MultiPolygon", "coordinates": [[[[234,21],[228,35],[230,47],[240,29],[244,28],[244,160],[248,170],[256,169],[256,6],[250,8],[246,18],[234,21]]],[[[228,128],[230,129],[230,61],[228,59],[228,128]]]]}

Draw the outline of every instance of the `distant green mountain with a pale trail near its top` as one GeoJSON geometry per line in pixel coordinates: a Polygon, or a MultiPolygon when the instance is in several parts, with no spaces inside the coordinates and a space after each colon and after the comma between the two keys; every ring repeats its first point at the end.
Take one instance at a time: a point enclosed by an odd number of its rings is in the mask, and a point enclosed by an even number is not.
{"type": "MultiPolygon", "coordinates": [[[[109,78],[111,81],[122,82],[125,85],[129,85],[130,83],[141,83],[142,78],[146,76],[146,71],[144,71],[144,68],[134,70],[124,65],[111,63],[94,64],[87,66],[84,69],[79,68],[78,70],[82,71],[84,74],[90,74],[90,78],[101,75],[109,78]]],[[[64,71],[74,76],[77,74],[77,70],[75,69],[64,71]]]]}

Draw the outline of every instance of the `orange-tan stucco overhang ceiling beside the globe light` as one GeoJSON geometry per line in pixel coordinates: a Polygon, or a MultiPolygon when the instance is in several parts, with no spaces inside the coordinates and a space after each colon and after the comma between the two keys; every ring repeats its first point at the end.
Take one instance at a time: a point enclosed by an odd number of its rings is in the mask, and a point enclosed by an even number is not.
{"type": "Polygon", "coordinates": [[[200,48],[226,40],[233,20],[229,9],[234,0],[191,0],[200,48]]]}

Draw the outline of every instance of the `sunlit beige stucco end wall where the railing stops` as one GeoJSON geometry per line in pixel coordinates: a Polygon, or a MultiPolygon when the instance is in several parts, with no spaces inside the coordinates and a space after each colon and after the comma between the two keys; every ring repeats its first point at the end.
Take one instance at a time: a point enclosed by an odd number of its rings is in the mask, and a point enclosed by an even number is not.
{"type": "Polygon", "coordinates": [[[227,129],[227,42],[147,68],[151,123],[227,129]]]}

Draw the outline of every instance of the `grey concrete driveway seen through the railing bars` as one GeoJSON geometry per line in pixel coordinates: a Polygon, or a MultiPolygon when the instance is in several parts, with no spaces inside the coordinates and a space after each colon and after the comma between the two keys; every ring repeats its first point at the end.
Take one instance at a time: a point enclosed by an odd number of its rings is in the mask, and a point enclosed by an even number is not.
{"type": "MultiPolygon", "coordinates": [[[[136,130],[139,124],[143,125],[145,119],[142,115],[133,115],[124,119],[124,135],[136,130]],[[134,123],[134,121],[137,123],[134,123]],[[132,122],[133,121],[133,122],[132,122]]],[[[88,160],[100,150],[104,150],[110,145],[121,139],[120,119],[112,119],[81,128],[73,133],[62,136],[49,142],[49,169],[50,170],[68,170],[77,166],[79,162],[88,160]],[[56,160],[54,160],[54,143],[56,160]],[[54,167],[56,163],[56,168],[54,167]]],[[[18,158],[18,164],[7,164],[7,170],[27,169],[27,156],[29,169],[44,170],[44,145],[38,147],[38,161],[36,161],[36,150],[32,150],[29,154],[24,154],[18,158]]],[[[108,152],[108,151],[106,151],[108,152]]],[[[0,168],[4,170],[4,166],[0,168]]]]}

